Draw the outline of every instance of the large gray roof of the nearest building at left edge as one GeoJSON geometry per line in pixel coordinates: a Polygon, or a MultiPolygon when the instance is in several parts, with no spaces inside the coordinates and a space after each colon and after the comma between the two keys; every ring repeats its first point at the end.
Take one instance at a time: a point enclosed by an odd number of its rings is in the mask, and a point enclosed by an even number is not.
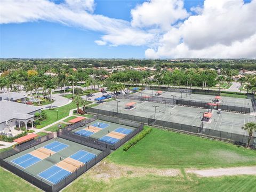
{"type": "Polygon", "coordinates": [[[34,115],[29,115],[41,107],[26,105],[23,103],[2,100],[0,101],[0,123],[10,119],[28,119],[34,115]]]}

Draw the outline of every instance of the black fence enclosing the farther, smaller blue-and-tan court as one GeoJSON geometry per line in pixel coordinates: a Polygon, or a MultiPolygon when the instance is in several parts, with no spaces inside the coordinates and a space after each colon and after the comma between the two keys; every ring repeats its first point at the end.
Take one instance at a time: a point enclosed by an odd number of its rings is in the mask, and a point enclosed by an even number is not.
{"type": "MultiPolygon", "coordinates": [[[[99,138],[95,138],[92,135],[91,136],[77,135],[77,134],[75,134],[75,131],[67,129],[67,127],[62,128],[61,132],[57,132],[57,135],[58,135],[58,137],[61,137],[61,138],[64,138],[64,139],[67,139],[70,141],[74,141],[74,142],[81,142],[81,143],[83,143],[83,145],[93,147],[93,148],[96,148],[99,150],[102,150],[101,149],[102,146],[104,146],[103,148],[106,148],[106,146],[109,146],[110,149],[116,150],[118,147],[123,145],[126,141],[128,141],[129,139],[134,137],[135,134],[137,134],[143,130],[143,124],[127,121],[125,119],[119,119],[116,117],[105,116],[105,115],[98,115],[98,119],[103,120],[103,121],[112,122],[112,123],[118,123],[121,125],[132,126],[132,127],[135,127],[136,129],[134,129],[130,134],[125,135],[124,138],[122,138],[121,140],[119,140],[115,143],[99,141],[99,138]],[[101,148],[97,148],[97,146],[101,146],[101,148]]],[[[83,125],[85,125],[85,124],[83,124],[83,125]]],[[[81,126],[83,126],[83,125],[81,125],[81,126]]]]}

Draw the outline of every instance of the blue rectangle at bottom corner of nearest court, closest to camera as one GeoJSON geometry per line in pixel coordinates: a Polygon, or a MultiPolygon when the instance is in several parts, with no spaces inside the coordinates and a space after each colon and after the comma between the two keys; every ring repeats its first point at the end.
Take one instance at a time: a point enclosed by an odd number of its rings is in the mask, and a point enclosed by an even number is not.
{"type": "Polygon", "coordinates": [[[70,173],[71,172],[67,170],[64,170],[56,165],[53,165],[49,169],[39,173],[38,176],[55,184],[61,179],[63,179],[63,177],[69,175],[70,173]]]}

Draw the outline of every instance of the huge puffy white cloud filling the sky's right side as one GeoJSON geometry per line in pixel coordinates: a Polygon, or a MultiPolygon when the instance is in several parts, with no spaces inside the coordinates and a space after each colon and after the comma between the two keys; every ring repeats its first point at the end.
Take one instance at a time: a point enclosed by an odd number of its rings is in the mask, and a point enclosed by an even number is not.
{"type": "Polygon", "coordinates": [[[147,58],[256,58],[256,1],[206,0],[202,13],[169,30],[147,58]],[[179,39],[179,41],[178,41],[179,39]]]}

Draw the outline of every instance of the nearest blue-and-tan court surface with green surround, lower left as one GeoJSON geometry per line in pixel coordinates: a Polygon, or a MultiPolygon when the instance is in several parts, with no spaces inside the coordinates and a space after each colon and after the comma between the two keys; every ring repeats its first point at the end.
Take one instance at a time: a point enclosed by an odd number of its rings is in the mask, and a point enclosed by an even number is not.
{"type": "Polygon", "coordinates": [[[101,153],[98,149],[54,138],[7,157],[4,161],[52,185],[101,153]]]}

